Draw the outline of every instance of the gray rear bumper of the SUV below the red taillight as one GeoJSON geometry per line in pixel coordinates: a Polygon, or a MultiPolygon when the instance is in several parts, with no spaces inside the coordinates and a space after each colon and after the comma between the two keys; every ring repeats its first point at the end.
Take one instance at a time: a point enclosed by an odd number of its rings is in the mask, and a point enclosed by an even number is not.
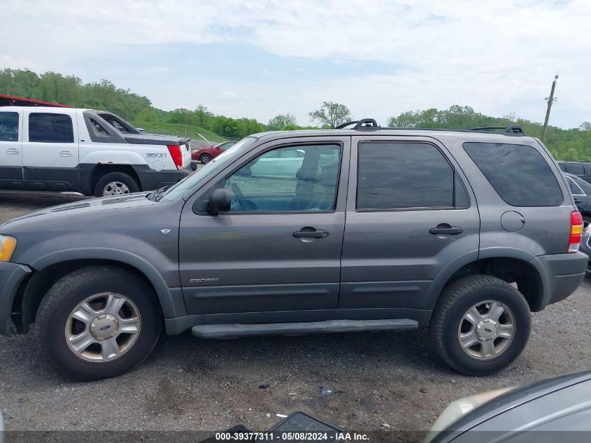
{"type": "Polygon", "coordinates": [[[532,260],[534,266],[545,270],[542,275],[546,279],[543,282],[541,306],[535,310],[540,311],[548,304],[560,302],[574,293],[585,278],[588,260],[588,256],[582,252],[539,255],[532,260]]]}

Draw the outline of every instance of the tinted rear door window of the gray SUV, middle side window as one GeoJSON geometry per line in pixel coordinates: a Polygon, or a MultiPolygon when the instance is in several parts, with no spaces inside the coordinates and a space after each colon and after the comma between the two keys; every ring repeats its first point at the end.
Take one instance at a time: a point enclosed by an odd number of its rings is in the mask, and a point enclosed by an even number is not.
{"type": "Polygon", "coordinates": [[[466,190],[435,146],[359,143],[357,209],[467,205],[466,190]]]}

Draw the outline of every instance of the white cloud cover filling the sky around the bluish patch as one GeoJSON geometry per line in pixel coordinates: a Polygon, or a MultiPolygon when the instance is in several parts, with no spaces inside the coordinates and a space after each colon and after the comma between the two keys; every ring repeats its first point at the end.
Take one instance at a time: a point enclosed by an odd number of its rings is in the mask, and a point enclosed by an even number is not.
{"type": "MultiPolygon", "coordinates": [[[[559,106],[578,115],[589,112],[588,99],[583,99],[591,97],[588,0],[30,3],[27,8],[17,0],[0,5],[0,15],[11,17],[0,29],[1,41],[10,43],[4,49],[10,55],[0,58],[0,66],[24,67],[29,60],[72,63],[77,56],[121,43],[247,43],[283,57],[341,62],[334,81],[306,76],[302,91],[263,81],[241,85],[236,78],[233,90],[256,90],[261,97],[256,108],[248,100],[241,108],[237,99],[233,115],[271,117],[289,103],[301,106],[290,110],[304,123],[307,111],[329,99],[348,104],[359,117],[383,113],[385,118],[450,104],[498,114],[511,112],[506,106],[512,101],[539,100],[523,116],[541,120],[543,97],[555,73],[560,73],[560,101],[553,112],[560,112],[559,106]],[[392,69],[357,78],[347,72],[351,62],[379,62],[392,69]]],[[[264,66],[269,68],[280,69],[264,66]]],[[[220,90],[227,87],[220,85],[220,90]]],[[[219,99],[219,92],[209,89],[200,97],[219,99]]],[[[158,85],[155,90],[162,92],[158,85]]],[[[188,98],[183,94],[178,101],[188,98]]]]}

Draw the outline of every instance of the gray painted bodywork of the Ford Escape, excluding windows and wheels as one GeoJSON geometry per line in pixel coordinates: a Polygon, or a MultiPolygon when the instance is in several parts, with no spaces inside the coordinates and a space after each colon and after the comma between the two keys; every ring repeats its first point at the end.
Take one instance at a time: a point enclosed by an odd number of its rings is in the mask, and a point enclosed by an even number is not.
{"type": "MultiPolygon", "coordinates": [[[[483,258],[517,258],[536,269],[541,282],[536,309],[567,297],[583,279],[587,257],[565,253],[574,202],[560,170],[536,139],[345,129],[256,134],[252,141],[243,143],[239,155],[223,167],[208,169],[211,176],[204,176],[182,199],[153,202],[145,194],[95,199],[0,225],[1,234],[17,238],[12,261],[33,273],[83,259],[134,267],[154,286],[169,333],[215,323],[406,318],[426,325],[443,286],[458,269],[483,258]],[[357,143],[368,140],[432,143],[464,183],[469,207],[356,211],[357,143]],[[564,202],[550,208],[508,206],[463,150],[467,140],[534,146],[557,177],[564,202]],[[334,211],[211,216],[194,210],[203,207],[213,185],[265,150],[321,142],[343,146],[334,211]],[[507,232],[501,224],[507,211],[518,211],[527,220],[518,232],[507,232]],[[464,232],[430,234],[439,223],[464,232]],[[293,237],[306,226],[330,235],[293,237]],[[162,234],[163,229],[169,234],[162,234]]],[[[5,288],[0,325],[5,325],[16,288],[28,272],[0,265],[5,288]]],[[[1,333],[8,333],[3,329],[1,333]]]]}

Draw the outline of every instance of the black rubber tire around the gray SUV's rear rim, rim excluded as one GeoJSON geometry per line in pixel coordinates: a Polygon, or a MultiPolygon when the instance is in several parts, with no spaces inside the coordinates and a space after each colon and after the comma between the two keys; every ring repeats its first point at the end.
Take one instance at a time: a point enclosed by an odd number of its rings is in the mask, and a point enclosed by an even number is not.
{"type": "Polygon", "coordinates": [[[518,358],[529,339],[530,327],[529,306],[517,289],[496,277],[472,275],[443,288],[429,325],[429,335],[436,353],[450,367],[462,374],[483,376],[501,370],[518,358]],[[515,332],[498,356],[480,360],[462,349],[458,330],[464,314],[471,307],[489,300],[508,307],[515,321],[515,332]]]}

